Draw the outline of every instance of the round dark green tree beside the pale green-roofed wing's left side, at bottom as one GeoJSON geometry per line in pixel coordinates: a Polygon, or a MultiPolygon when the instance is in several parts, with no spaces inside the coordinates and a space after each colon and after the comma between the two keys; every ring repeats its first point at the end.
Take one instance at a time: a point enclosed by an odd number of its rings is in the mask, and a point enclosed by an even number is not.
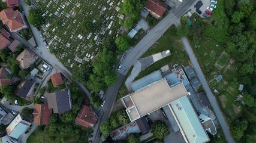
{"type": "Polygon", "coordinates": [[[164,139],[165,136],[170,134],[168,126],[161,120],[156,120],[152,125],[152,133],[158,139],[164,139]]]}

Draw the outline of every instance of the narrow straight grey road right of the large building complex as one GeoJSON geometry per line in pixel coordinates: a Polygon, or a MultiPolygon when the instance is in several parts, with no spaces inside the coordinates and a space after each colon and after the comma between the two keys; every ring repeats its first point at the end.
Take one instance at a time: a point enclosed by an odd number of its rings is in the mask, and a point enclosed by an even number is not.
{"type": "Polygon", "coordinates": [[[191,63],[195,69],[195,73],[197,73],[197,77],[201,82],[201,85],[204,88],[204,91],[206,92],[207,98],[210,101],[210,104],[212,105],[213,110],[215,111],[215,115],[221,125],[221,128],[224,132],[225,138],[229,143],[233,143],[234,138],[231,135],[229,126],[227,125],[227,122],[225,122],[224,116],[222,115],[221,109],[218,106],[218,101],[216,100],[216,98],[214,97],[214,95],[212,94],[212,91],[210,90],[210,87],[207,83],[206,78],[204,77],[203,71],[201,70],[197,58],[195,57],[195,54],[188,42],[187,38],[182,38],[182,43],[185,46],[186,52],[188,53],[188,56],[191,60],[191,63]]]}

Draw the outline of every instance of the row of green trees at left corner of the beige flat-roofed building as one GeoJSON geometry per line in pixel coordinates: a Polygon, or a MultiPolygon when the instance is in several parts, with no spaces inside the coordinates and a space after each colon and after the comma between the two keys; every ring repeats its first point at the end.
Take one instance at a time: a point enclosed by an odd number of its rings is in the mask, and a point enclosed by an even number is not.
{"type": "Polygon", "coordinates": [[[108,120],[106,120],[101,126],[100,130],[104,136],[108,136],[113,129],[118,126],[124,126],[129,123],[129,117],[125,110],[119,110],[113,113],[108,120]]]}

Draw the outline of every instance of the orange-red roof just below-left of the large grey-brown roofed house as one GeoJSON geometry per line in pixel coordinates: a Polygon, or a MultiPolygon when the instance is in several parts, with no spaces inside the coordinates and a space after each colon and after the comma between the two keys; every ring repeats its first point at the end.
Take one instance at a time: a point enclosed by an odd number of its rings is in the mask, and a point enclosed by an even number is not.
{"type": "Polygon", "coordinates": [[[37,125],[49,125],[51,114],[52,110],[48,108],[47,104],[35,104],[33,111],[34,123],[37,125]]]}

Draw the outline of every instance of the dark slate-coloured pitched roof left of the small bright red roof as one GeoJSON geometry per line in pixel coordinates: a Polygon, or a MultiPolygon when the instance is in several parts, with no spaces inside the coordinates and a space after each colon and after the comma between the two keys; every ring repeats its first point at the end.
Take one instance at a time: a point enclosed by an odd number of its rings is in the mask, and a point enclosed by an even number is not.
{"type": "Polygon", "coordinates": [[[34,85],[34,83],[35,82],[32,82],[31,80],[25,80],[25,81],[20,82],[17,95],[19,97],[26,98],[26,96],[28,96],[30,89],[34,85]]]}

